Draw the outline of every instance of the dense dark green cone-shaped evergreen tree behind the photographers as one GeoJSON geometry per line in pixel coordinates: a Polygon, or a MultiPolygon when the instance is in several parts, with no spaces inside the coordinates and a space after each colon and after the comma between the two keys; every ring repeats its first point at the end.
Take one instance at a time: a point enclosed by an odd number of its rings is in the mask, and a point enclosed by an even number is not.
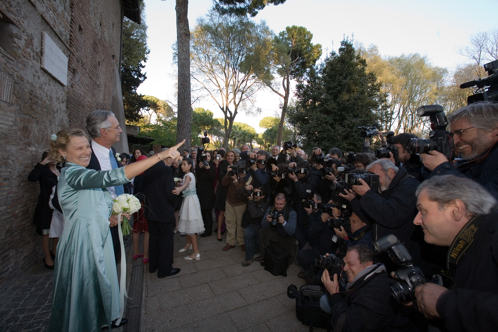
{"type": "Polygon", "coordinates": [[[304,80],[298,80],[298,102],[289,108],[288,121],[305,146],[362,150],[357,127],[378,121],[377,113],[385,107],[380,85],[366,67],[352,42],[344,39],[338,53],[332,51],[304,80]]]}

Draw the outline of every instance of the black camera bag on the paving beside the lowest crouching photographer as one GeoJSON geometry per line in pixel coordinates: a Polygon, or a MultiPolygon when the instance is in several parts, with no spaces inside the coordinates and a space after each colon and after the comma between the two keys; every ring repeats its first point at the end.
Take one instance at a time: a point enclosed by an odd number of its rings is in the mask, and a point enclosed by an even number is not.
{"type": "Polygon", "coordinates": [[[319,285],[302,285],[297,291],[295,285],[287,287],[287,296],[296,299],[296,317],[303,325],[313,328],[332,330],[330,314],[320,308],[320,298],[325,294],[325,288],[319,285]]]}

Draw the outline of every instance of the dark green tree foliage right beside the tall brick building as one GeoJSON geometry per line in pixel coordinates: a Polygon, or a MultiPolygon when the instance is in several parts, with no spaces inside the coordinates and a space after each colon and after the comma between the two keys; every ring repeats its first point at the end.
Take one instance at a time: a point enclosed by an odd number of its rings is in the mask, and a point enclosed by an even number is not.
{"type": "Polygon", "coordinates": [[[124,117],[138,121],[140,109],[147,106],[142,95],[136,93],[138,86],[147,78],[142,69],[150,53],[147,48],[147,25],[144,14],[145,4],[140,2],[142,24],[124,18],[123,21],[123,56],[121,67],[121,89],[123,93],[124,117]]]}

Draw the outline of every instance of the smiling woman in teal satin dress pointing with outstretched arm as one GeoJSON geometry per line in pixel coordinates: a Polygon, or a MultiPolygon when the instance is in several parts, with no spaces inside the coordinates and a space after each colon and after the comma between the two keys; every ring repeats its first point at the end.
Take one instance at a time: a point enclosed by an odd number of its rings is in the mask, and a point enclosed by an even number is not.
{"type": "Polygon", "coordinates": [[[168,157],[178,159],[176,148],[183,142],[125,167],[96,171],[86,169],[92,150],[83,130],[63,129],[56,135],[50,154],[66,161],[57,185],[64,231],[55,258],[49,331],[100,332],[120,317],[121,309],[109,228],[113,202],[105,188],[123,185],[168,157]]]}

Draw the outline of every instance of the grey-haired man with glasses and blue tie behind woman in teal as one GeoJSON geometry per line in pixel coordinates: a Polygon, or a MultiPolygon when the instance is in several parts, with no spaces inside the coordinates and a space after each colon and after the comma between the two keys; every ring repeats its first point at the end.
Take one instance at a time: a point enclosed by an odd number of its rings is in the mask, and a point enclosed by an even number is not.
{"type": "MultiPolygon", "coordinates": [[[[92,138],[90,142],[92,156],[87,168],[96,171],[109,171],[122,167],[121,162],[118,162],[116,158],[116,150],[113,144],[119,142],[123,130],[114,113],[102,110],[91,112],[87,116],[87,131],[92,138]]],[[[123,186],[109,187],[107,190],[113,199],[124,194],[123,186]]],[[[111,221],[114,255],[116,262],[119,263],[121,262],[121,243],[118,227],[114,227],[117,225],[117,217],[112,216],[109,221],[111,221]]]]}

